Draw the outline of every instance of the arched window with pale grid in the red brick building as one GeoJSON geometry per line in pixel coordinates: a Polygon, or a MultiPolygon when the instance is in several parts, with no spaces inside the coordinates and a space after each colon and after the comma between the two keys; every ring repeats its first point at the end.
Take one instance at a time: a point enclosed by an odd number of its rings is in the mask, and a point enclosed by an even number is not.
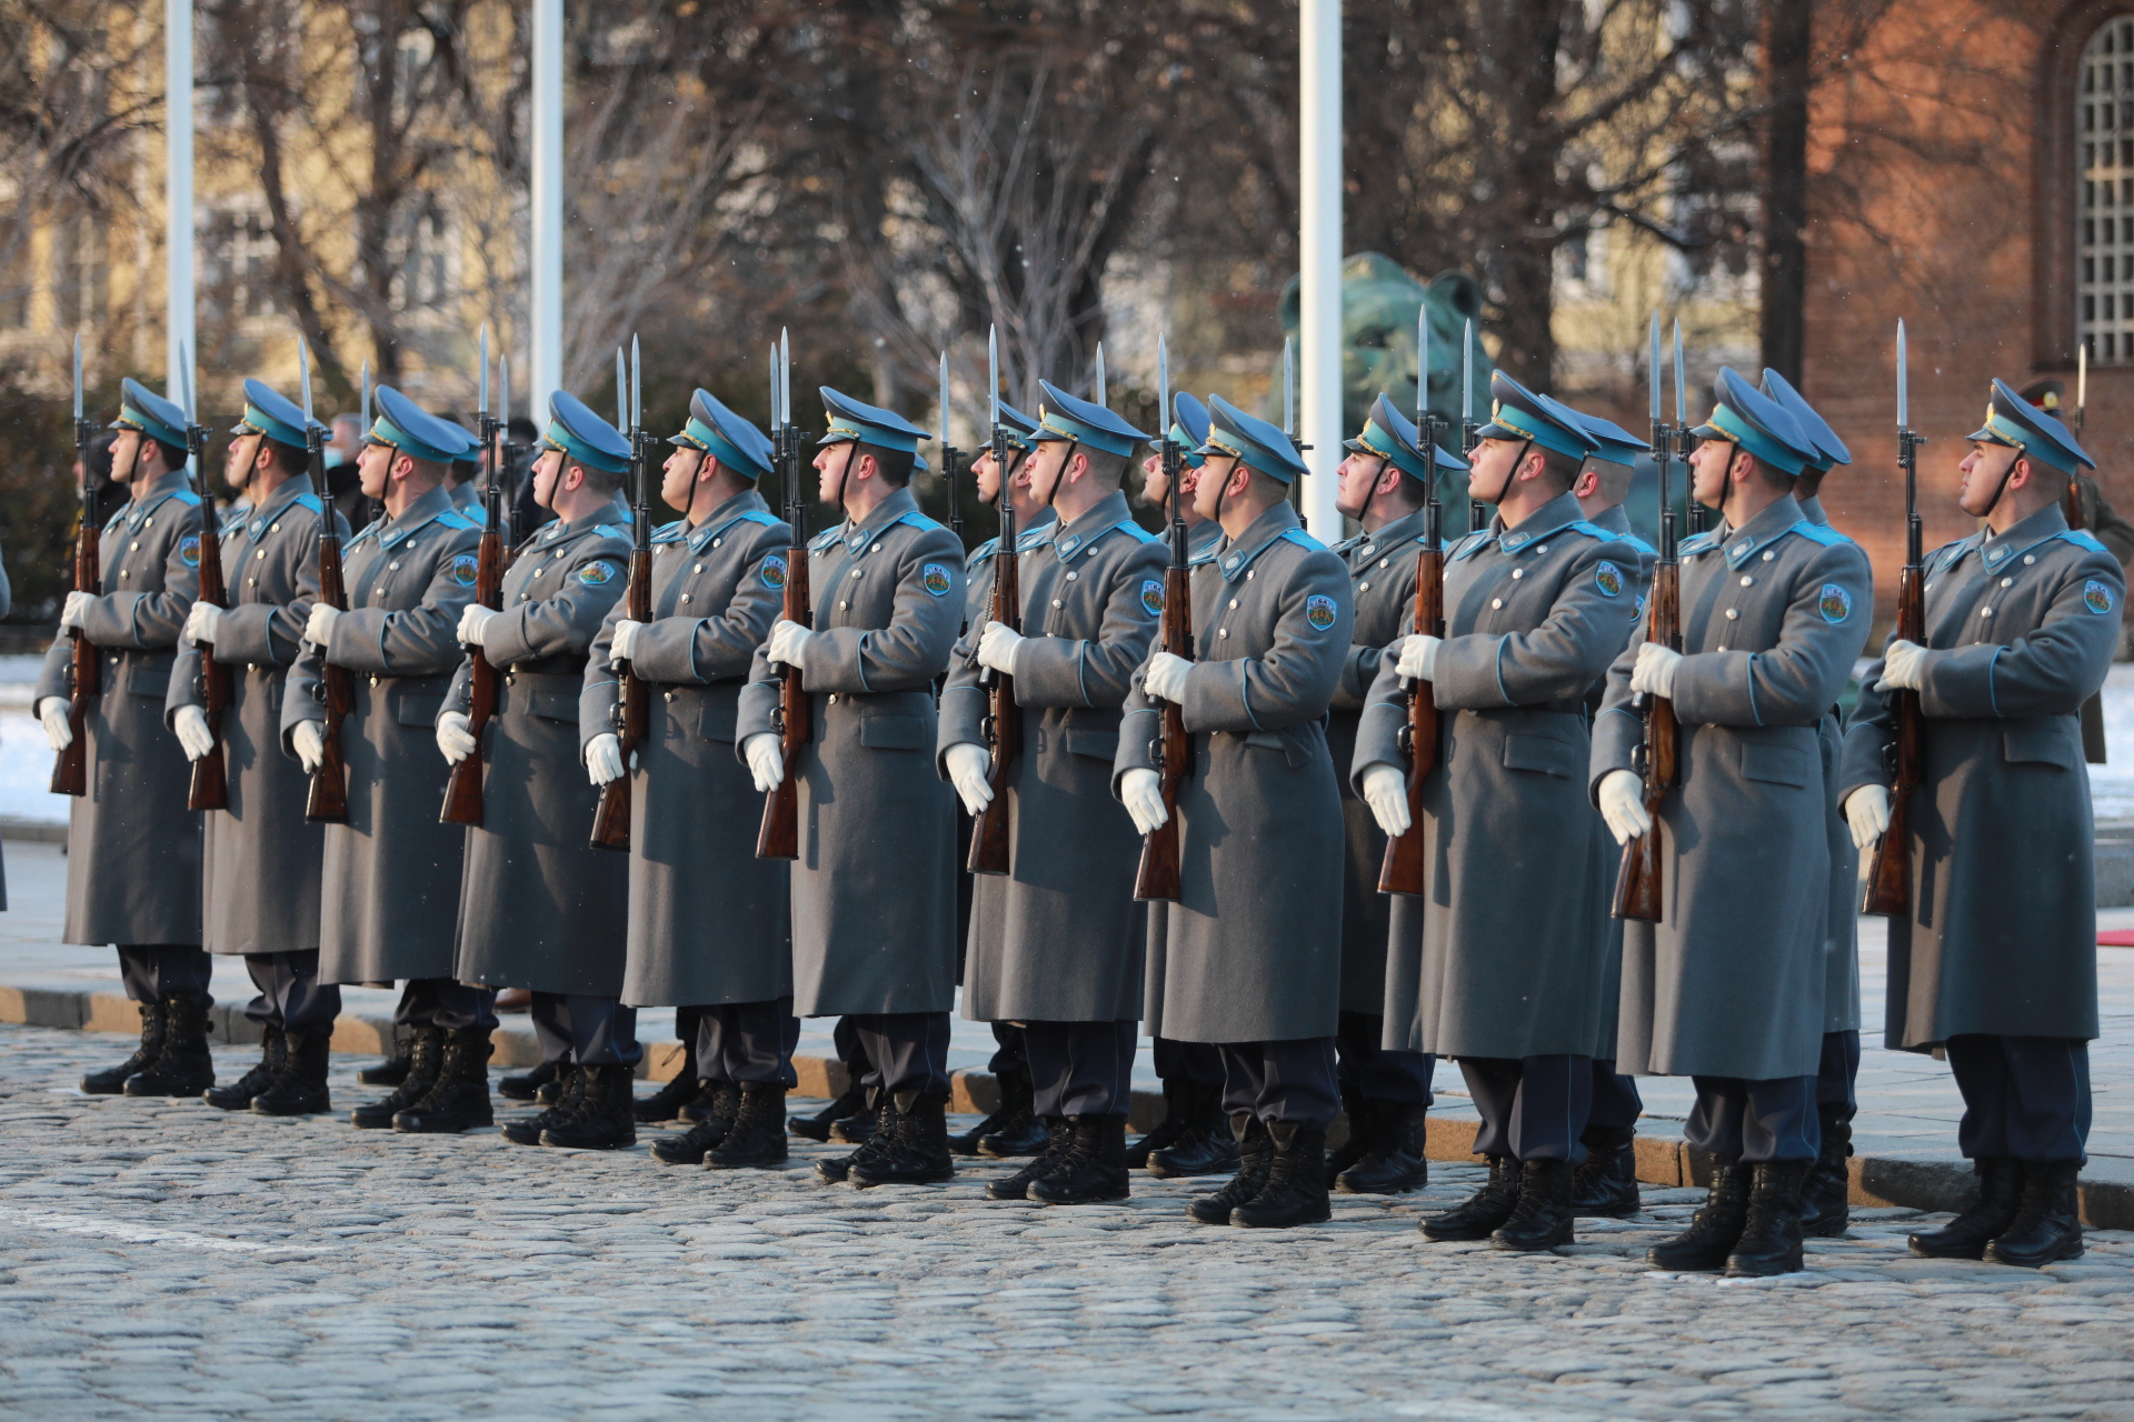
{"type": "Polygon", "coordinates": [[[2134,365],[2134,15],[2083,45],[2074,145],[2074,330],[2093,365],[2134,365]]]}

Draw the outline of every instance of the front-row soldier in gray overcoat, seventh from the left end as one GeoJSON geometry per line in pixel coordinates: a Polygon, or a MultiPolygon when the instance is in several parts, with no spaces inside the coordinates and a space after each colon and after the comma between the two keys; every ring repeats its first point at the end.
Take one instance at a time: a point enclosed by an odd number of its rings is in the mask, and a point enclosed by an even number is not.
{"type": "Polygon", "coordinates": [[[1112,799],[1118,708],[1163,612],[1163,548],[1118,484],[1146,439],[1050,382],[1016,475],[1056,518],[1022,535],[1022,631],[975,618],[950,659],[939,761],[965,810],[1007,814],[1009,868],[973,876],[962,1013],[1022,1023],[1046,1149],[997,1200],[1127,1198],[1127,1106],[1146,910],[1140,840],[1112,799]],[[1022,753],[990,782],[986,669],[1012,678],[1022,753]],[[992,804],[994,795],[1005,804],[992,804]]]}

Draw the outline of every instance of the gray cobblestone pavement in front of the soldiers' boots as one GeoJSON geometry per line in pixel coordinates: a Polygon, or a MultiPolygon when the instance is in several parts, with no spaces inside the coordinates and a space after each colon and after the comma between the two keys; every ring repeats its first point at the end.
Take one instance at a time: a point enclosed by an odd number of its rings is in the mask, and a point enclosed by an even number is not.
{"type": "Polygon", "coordinates": [[[1144,1177],[1048,1209],[990,1162],[858,1192],[813,1147],[706,1175],[75,1092],[120,1051],[0,1028],[0,1416],[2134,1418],[2134,1234],[2034,1275],[1876,1211],[1729,1286],[1643,1269],[1682,1190],[1507,1256],[1415,1232],[1470,1166],[1248,1232],[1144,1177]]]}

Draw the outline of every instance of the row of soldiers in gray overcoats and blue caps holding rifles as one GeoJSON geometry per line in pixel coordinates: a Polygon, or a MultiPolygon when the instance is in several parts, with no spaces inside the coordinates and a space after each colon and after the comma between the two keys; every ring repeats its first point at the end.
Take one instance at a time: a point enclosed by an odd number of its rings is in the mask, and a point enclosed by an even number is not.
{"type": "MultiPolygon", "coordinates": [[[[841,522],[790,548],[758,492],[773,441],[698,390],[659,482],[681,518],[651,535],[638,620],[621,603],[632,443],[570,394],[551,401],[531,473],[555,520],[487,608],[480,522],[446,486],[474,441],[382,388],[359,471],[384,516],[350,539],[337,610],[320,599],[335,516],[305,478],[312,426],[245,382],[224,458],[243,505],[222,527],[216,608],[194,599],[186,414],[126,382],[113,469],[132,497],[102,529],[100,586],[62,616],[105,661],[81,723],[90,793],[64,936],[122,944],[143,1034],[83,1087],[327,1111],[339,985],[403,983],[408,1049],[365,1072],[395,1089],[354,1124],[491,1126],[491,985],[516,985],[544,1064],[504,1089],[546,1106],[506,1121],[519,1143],[612,1149],[640,1119],[681,1117],[657,1160],[766,1168],[783,1166],[787,1126],[834,1130],[858,1149],[817,1164],[832,1181],[943,1181],[956,1153],[997,1153],[1026,1164],[994,1198],[1078,1205],[1125,1198],[1131,1168],[1229,1173],[1195,1219],[1291,1226],[1325,1219],[1329,1190],[1426,1181],[1434,1064],[1453,1057],[1490,1173],[1423,1234],[1549,1249],[1577,1215],[1637,1211],[1635,1077],[1692,1077],[1686,1134],[1716,1162],[1709,1198],[1652,1260],[1784,1273],[1803,1237],[1846,1228],[1857,853],[1891,823],[1893,706],[1916,693],[1925,780],[1904,834],[1918,891],[1891,925],[1886,1034],[1955,1068],[1980,1198],[1912,1247],[2079,1254],[2096,962],[2074,716],[2123,595],[2117,563],[2061,514],[2089,456],[1995,382],[1963,460],[1961,507],[1982,529],[1927,559],[1923,640],[1891,642],[1842,727],[1872,571],[1818,503],[1850,456],[1784,379],[1722,371],[1690,431],[1692,497],[1718,527],[1679,548],[1677,644],[1645,635],[1656,550],[1622,510],[1645,441],[1504,375],[1492,394],[1468,458],[1381,397],[1338,475],[1361,533],[1336,548],[1300,527],[1304,463],[1283,431],[1180,394],[1163,439],[1182,460],[1144,460],[1144,497],[1169,503],[1191,548],[1195,655],[1178,657],[1157,642],[1167,550],[1125,492],[1148,435],[1050,384],[1037,418],[1001,407],[1009,467],[973,465],[1024,531],[969,556],[913,499],[926,433],[834,390],[813,467],[841,522]],[[1438,635],[1413,618],[1445,471],[1496,516],[1445,550],[1438,635]],[[781,616],[796,556],[805,623],[781,616]],[[988,614],[1003,556],[1020,567],[1020,631],[988,614]],[[476,650],[501,676],[480,733],[487,812],[463,829],[437,808],[478,748],[476,650]],[[233,678],[216,729],[203,659],[233,678]],[[316,825],[329,667],[352,684],[348,817],[316,825]],[[655,689],[627,757],[619,667],[655,689]],[[796,755],[783,669],[813,721],[796,755]],[[994,678],[1012,678],[1022,721],[1003,774],[994,678]],[[1440,731],[1411,787],[1417,689],[1440,731]],[[1647,806],[1637,746],[1658,701],[1682,772],[1647,806]],[[1191,736],[1169,793],[1167,708],[1191,736]],[[228,808],[203,834],[188,757],[218,742],[228,808]],[[600,787],[625,776],[627,857],[587,844],[600,787]],[[785,776],[792,863],[753,838],[785,776]],[[1009,872],[965,876],[958,799],[980,814],[997,795],[1009,872]],[[1176,900],[1140,904],[1142,836],[1172,817],[1176,900]],[[1417,834],[1421,891],[1379,893],[1387,838],[1417,834]],[[1618,844],[1645,834],[1665,912],[1624,923],[1609,915],[1618,844]],[[209,953],[245,957],[265,1038],[224,1085],[209,953]],[[992,1023],[1003,1106],[952,1136],[958,985],[962,1015],[992,1023]],[[683,1008],[685,1068],[651,1100],[632,1100],[638,1006],[683,1008]],[[856,1077],[822,1117],[787,1124],[802,1017],[841,1019],[856,1077]],[[1167,1119],[1129,1145],[1142,1028],[1167,1119]]],[[[62,637],[38,689],[53,748],[73,736],[66,667],[62,637]]]]}

